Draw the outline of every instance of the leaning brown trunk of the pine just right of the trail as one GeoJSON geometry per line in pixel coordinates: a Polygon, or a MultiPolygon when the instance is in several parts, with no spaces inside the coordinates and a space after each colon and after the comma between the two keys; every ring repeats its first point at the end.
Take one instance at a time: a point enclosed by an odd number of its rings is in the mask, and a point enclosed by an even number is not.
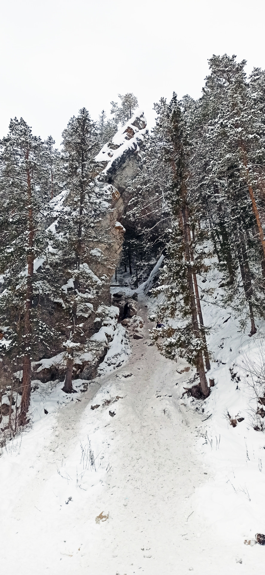
{"type": "MultiPolygon", "coordinates": [[[[184,246],[185,246],[185,251],[186,251],[186,258],[187,258],[187,261],[190,262],[191,260],[190,260],[190,251],[189,251],[189,237],[188,237],[188,227],[187,227],[185,209],[181,210],[180,218],[182,220],[182,229],[184,231],[183,239],[184,239],[184,246]]],[[[197,309],[196,309],[194,290],[193,290],[193,281],[192,281],[192,270],[191,270],[190,266],[188,267],[188,286],[189,286],[190,309],[191,309],[191,315],[192,315],[192,324],[193,324],[194,335],[197,339],[200,340],[201,339],[201,332],[198,328],[197,309]]],[[[197,368],[197,371],[198,371],[198,374],[200,377],[201,391],[205,397],[208,397],[209,393],[210,393],[210,389],[208,387],[208,383],[207,383],[207,379],[206,379],[206,375],[205,375],[204,361],[203,361],[203,356],[202,356],[201,351],[198,351],[198,354],[197,354],[196,368],[197,368]]]]}

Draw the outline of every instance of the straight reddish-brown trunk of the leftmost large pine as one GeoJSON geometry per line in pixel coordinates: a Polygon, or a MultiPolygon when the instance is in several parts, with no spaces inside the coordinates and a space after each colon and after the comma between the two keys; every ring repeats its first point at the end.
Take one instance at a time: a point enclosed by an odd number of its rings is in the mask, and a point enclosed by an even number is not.
{"type": "MultiPolygon", "coordinates": [[[[29,159],[29,152],[26,153],[26,160],[29,159]]],[[[30,181],[30,171],[29,168],[26,170],[27,176],[27,194],[28,194],[28,275],[26,278],[26,302],[25,302],[25,315],[24,315],[24,345],[25,352],[22,362],[22,396],[20,403],[20,425],[25,425],[26,416],[29,411],[30,405],[30,384],[31,384],[31,339],[32,339],[32,321],[31,321],[31,310],[32,310],[32,297],[33,297],[33,264],[34,264],[34,252],[33,252],[33,238],[34,238],[34,227],[33,227],[33,209],[32,209],[32,187],[30,181]]]]}

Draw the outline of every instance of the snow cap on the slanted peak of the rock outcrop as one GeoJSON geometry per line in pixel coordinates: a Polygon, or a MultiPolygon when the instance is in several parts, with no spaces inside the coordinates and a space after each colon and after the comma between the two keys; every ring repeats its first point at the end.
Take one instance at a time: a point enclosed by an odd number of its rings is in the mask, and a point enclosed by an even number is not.
{"type": "Polygon", "coordinates": [[[112,174],[123,164],[131,152],[139,152],[147,133],[143,110],[137,110],[132,118],[105,144],[96,156],[96,162],[107,162],[104,175],[112,174]]]}

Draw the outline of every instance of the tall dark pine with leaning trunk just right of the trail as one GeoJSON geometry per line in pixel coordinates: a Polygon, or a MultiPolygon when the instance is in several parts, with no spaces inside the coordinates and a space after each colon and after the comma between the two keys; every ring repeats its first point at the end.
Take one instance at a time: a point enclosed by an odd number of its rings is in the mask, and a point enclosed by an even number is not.
{"type": "Polygon", "coordinates": [[[168,325],[162,330],[154,329],[151,337],[162,354],[171,359],[181,355],[196,366],[201,393],[207,397],[209,387],[203,354],[207,369],[210,364],[197,286],[197,273],[206,270],[205,254],[200,248],[205,232],[200,231],[196,224],[198,206],[194,204],[194,183],[190,177],[194,151],[190,138],[191,122],[176,94],[169,104],[162,98],[155,110],[158,118],[154,134],[163,154],[172,230],[159,278],[161,285],[154,290],[154,294],[163,294],[164,297],[163,303],[158,305],[157,318],[168,325]],[[177,317],[182,321],[180,323],[179,320],[176,327],[177,317]]]}

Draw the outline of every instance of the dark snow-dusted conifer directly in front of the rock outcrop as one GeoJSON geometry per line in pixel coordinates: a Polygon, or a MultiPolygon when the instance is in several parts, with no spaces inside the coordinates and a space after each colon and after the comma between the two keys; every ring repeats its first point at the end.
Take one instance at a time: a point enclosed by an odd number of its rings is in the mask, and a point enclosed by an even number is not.
{"type": "MultiPolygon", "coordinates": [[[[64,391],[73,393],[72,370],[75,356],[86,343],[80,317],[89,316],[91,300],[102,289],[102,280],[88,266],[91,242],[99,241],[96,223],[100,218],[102,200],[108,197],[96,182],[98,165],[94,162],[98,132],[85,108],[72,117],[63,132],[63,160],[68,195],[57,222],[57,236],[50,236],[54,255],[49,256],[50,279],[54,298],[64,309],[60,328],[66,342],[67,371],[64,391]]],[[[104,231],[102,231],[104,235],[104,231]]],[[[52,250],[52,252],[53,252],[52,250]]],[[[93,307],[93,306],[92,306],[93,307]]]]}

